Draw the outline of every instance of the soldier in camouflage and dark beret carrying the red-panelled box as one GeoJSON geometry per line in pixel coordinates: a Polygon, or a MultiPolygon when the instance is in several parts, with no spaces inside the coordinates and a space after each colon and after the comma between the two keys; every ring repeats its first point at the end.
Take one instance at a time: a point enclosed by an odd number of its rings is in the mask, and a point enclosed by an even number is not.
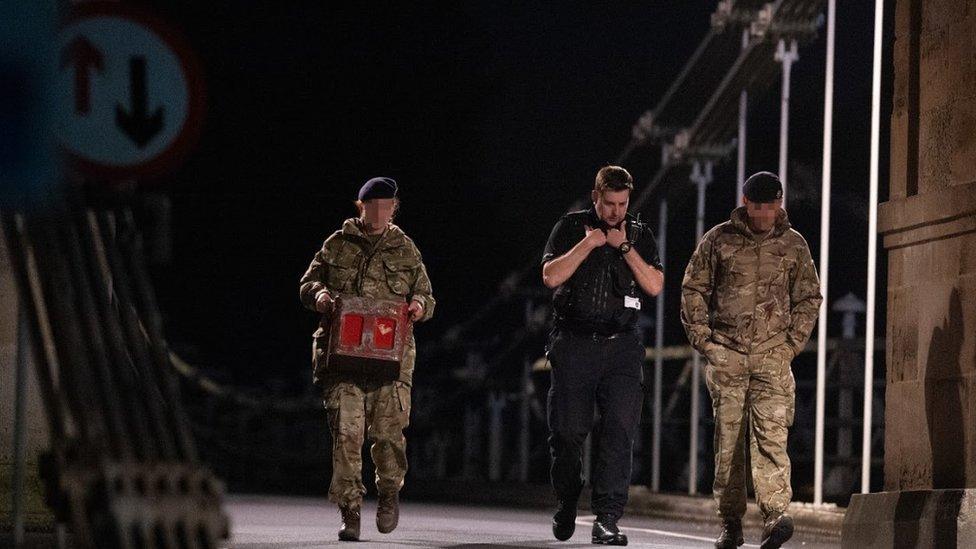
{"type": "Polygon", "coordinates": [[[395,382],[350,380],[325,368],[329,313],[335,297],[352,295],[383,300],[409,300],[412,321],[430,319],[434,297],[420,251],[391,221],[398,207],[392,179],[370,179],[359,192],[360,217],[347,219],[329,236],[302,276],[302,304],[322,313],[313,335],[313,381],[322,389],[332,432],[332,483],[329,499],[339,506],[339,539],[359,539],[360,509],[366,488],[362,481],[362,447],[366,436],[376,465],[379,503],[376,526],[392,532],[399,518],[399,492],[407,471],[403,429],[410,421],[410,386],[416,345],[407,345],[395,382]]]}

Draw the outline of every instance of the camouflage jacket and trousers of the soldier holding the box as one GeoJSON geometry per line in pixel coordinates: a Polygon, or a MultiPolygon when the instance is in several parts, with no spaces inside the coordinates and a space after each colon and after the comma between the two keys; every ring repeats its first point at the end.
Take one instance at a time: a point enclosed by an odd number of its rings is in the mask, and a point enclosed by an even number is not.
{"type": "MultiPolygon", "coordinates": [[[[374,299],[419,302],[421,321],[434,313],[430,279],[420,252],[403,231],[391,224],[373,242],[355,219],[329,236],[302,276],[302,303],[315,310],[319,292],[333,297],[355,295],[374,299]]],[[[338,379],[324,369],[328,345],[328,318],[323,316],[312,342],[313,380],[323,391],[332,431],[332,484],[329,499],[348,506],[358,505],[366,488],[362,481],[362,447],[366,436],[372,441],[376,464],[376,486],[380,493],[403,486],[407,471],[403,429],[410,421],[410,385],[417,356],[413,336],[400,365],[400,378],[392,383],[363,383],[338,379]]]]}

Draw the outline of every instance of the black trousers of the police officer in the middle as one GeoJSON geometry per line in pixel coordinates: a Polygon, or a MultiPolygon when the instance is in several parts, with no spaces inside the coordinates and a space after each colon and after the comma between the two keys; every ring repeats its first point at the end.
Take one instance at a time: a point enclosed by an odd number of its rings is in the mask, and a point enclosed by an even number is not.
{"type": "Polygon", "coordinates": [[[583,487],[583,443],[598,413],[591,509],[618,520],[627,504],[634,436],[640,421],[644,346],[636,334],[614,338],[554,330],[549,344],[550,477],[556,497],[583,487]]]}

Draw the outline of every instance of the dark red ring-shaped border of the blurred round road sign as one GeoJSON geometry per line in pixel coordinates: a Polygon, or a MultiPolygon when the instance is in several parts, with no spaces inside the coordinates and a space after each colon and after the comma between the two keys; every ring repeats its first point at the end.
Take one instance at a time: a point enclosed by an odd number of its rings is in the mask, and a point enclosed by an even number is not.
{"type": "Polygon", "coordinates": [[[158,36],[173,50],[180,61],[184,74],[186,74],[187,91],[189,93],[186,122],[180,129],[179,135],[177,135],[169,147],[156,155],[152,160],[141,164],[108,166],[81,158],[77,154],[67,150],[64,146],[62,146],[62,149],[67,154],[71,167],[95,177],[112,180],[134,179],[139,177],[152,179],[159,177],[183,161],[190,149],[199,140],[203,125],[204,105],[206,104],[206,90],[203,85],[200,61],[183,36],[175,28],[145,9],[129,6],[121,2],[89,2],[79,4],[71,10],[68,17],[62,23],[61,28],[63,30],[67,25],[91,17],[118,17],[128,19],[158,36]]]}

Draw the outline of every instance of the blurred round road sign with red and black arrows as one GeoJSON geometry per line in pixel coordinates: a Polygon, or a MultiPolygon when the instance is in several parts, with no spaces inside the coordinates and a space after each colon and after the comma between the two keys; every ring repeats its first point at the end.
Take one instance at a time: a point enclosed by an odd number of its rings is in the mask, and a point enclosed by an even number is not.
{"type": "Polygon", "coordinates": [[[198,64],[169,26],[121,3],[82,4],[62,27],[58,51],[59,136],[79,169],[151,176],[196,140],[198,64]]]}

